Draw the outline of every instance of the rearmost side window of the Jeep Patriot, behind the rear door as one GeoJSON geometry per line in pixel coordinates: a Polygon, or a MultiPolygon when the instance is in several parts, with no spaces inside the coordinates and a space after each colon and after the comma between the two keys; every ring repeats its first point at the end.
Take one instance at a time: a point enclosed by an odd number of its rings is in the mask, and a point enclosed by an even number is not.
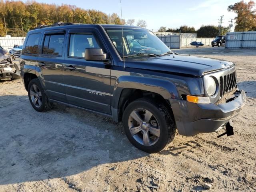
{"type": "Polygon", "coordinates": [[[25,47],[25,52],[27,54],[38,54],[38,44],[40,40],[41,33],[30,34],[25,47]]]}

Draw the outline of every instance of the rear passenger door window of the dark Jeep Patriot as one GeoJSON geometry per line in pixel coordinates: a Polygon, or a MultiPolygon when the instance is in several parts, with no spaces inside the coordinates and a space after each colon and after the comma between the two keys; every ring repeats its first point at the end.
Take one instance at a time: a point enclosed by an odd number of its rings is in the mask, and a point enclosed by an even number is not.
{"type": "Polygon", "coordinates": [[[61,56],[64,34],[46,35],[44,38],[43,54],[61,56]]]}

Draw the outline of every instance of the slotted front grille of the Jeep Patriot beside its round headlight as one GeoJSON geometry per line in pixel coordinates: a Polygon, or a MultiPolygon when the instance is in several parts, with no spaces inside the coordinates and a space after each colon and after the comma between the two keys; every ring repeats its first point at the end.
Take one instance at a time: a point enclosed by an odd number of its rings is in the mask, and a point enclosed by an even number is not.
{"type": "Polygon", "coordinates": [[[236,88],[236,71],[220,76],[220,97],[236,88]]]}

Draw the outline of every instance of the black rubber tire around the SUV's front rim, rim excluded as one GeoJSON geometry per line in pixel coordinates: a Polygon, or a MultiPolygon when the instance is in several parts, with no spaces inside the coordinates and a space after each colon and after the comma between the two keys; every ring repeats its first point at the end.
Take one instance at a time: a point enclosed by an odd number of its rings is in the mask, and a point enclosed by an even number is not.
{"type": "MultiPolygon", "coordinates": [[[[169,112],[168,109],[162,103],[156,103],[154,100],[149,99],[138,99],[131,102],[125,109],[123,114],[123,124],[124,124],[124,132],[126,133],[127,138],[130,142],[138,149],[148,152],[148,153],[156,153],[160,152],[167,146],[175,136],[176,125],[172,115],[172,112],[169,112]],[[146,146],[144,144],[140,144],[134,136],[132,136],[129,128],[129,118],[130,114],[136,109],[145,109],[149,110],[153,116],[156,118],[156,121],[159,124],[160,128],[160,136],[156,143],[146,146]]],[[[141,134],[142,131],[138,132],[141,134]]]]}

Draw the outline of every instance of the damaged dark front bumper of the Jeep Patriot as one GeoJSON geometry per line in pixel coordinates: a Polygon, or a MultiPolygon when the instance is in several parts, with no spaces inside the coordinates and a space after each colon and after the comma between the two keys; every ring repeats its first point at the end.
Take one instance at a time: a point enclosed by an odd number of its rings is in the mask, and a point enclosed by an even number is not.
{"type": "Polygon", "coordinates": [[[230,102],[224,104],[195,104],[183,100],[172,103],[176,126],[180,135],[193,136],[224,128],[237,116],[246,102],[244,90],[236,91],[230,102]]]}

